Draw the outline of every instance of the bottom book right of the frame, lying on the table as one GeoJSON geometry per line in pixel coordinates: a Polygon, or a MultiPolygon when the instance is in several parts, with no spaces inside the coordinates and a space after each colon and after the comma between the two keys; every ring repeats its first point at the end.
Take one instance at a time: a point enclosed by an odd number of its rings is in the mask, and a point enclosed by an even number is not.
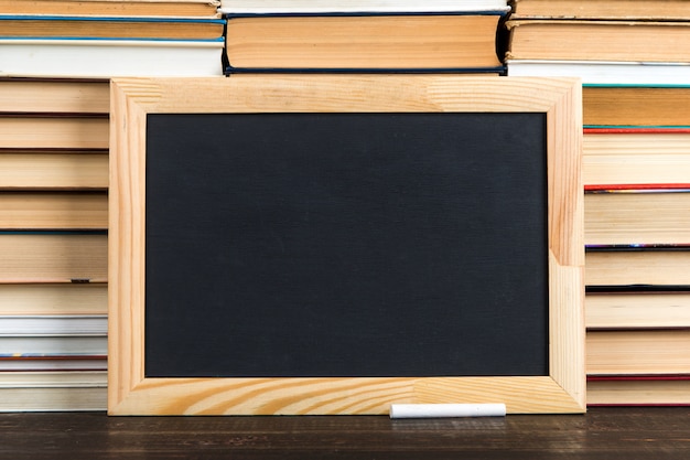
{"type": "Polygon", "coordinates": [[[587,406],[689,406],[690,374],[587,376],[587,406]]]}

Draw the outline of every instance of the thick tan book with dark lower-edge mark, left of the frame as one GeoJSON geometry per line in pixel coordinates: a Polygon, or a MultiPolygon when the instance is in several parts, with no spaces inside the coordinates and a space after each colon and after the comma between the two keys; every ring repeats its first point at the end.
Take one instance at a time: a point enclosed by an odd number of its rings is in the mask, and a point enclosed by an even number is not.
{"type": "Polygon", "coordinates": [[[106,282],[105,232],[0,233],[1,284],[106,282]]]}

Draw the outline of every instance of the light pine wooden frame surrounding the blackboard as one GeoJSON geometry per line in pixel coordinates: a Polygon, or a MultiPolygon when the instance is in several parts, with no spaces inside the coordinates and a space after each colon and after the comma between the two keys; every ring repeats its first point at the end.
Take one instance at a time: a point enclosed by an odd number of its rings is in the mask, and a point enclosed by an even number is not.
{"type": "Polygon", "coordinates": [[[388,414],[391,403],[505,403],[508,413],[585,411],[582,109],[576,79],[460,75],[117,78],[111,83],[110,130],[110,415],[388,414]],[[550,375],[145,377],[147,115],[292,111],[546,114],[550,375]]]}

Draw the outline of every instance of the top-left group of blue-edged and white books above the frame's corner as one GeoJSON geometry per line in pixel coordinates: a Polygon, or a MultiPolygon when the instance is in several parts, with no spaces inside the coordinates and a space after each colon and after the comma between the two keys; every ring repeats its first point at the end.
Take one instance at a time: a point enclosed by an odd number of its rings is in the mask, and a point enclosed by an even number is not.
{"type": "Polygon", "coordinates": [[[0,76],[223,75],[215,0],[0,0],[0,76]]]}

